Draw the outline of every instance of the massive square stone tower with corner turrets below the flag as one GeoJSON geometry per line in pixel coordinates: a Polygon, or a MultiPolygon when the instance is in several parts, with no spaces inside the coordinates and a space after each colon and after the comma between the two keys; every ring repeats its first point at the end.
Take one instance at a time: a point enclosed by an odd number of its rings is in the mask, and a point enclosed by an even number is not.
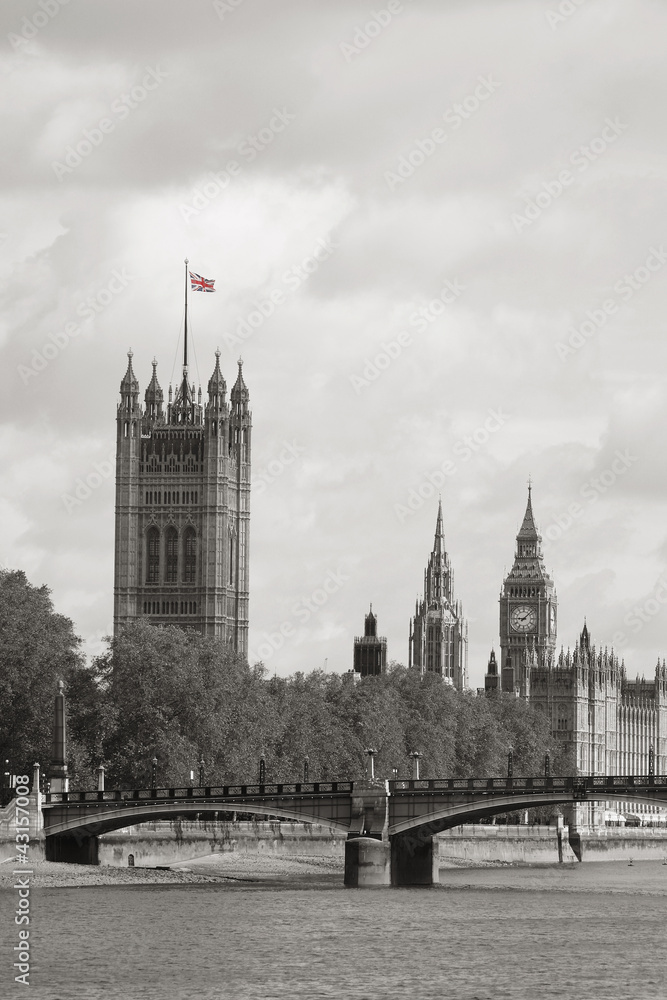
{"type": "MultiPolygon", "coordinates": [[[[187,355],[184,360],[187,360],[187,355]]],[[[145,617],[248,651],[251,413],[239,361],[226,398],[220,352],[208,383],[144,397],[128,355],[116,423],[114,629],[145,617]]]]}

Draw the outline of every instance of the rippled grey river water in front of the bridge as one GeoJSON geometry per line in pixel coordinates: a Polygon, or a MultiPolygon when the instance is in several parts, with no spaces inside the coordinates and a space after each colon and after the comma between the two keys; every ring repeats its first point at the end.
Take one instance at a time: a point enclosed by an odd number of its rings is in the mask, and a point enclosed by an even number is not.
{"type": "MultiPolygon", "coordinates": [[[[667,1000],[667,865],[35,889],[39,1000],[667,1000]]],[[[6,950],[3,949],[6,954],[6,950]]]]}

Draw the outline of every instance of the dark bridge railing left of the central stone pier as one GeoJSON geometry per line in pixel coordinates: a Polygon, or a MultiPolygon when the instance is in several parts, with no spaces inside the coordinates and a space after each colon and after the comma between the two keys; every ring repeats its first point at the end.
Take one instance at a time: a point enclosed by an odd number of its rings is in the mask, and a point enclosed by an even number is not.
{"type": "Polygon", "coordinates": [[[271,785],[207,785],[206,787],[188,788],[122,788],[105,789],[104,791],[47,792],[46,804],[58,802],[137,802],[165,801],[187,799],[230,799],[272,797],[275,795],[321,795],[349,794],[352,791],[351,781],[314,781],[290,782],[271,785]]]}

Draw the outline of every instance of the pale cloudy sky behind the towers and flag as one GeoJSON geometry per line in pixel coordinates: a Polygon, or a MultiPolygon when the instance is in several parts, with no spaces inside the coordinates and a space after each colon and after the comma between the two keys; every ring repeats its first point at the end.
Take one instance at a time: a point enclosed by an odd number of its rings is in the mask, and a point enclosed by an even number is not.
{"type": "Polygon", "coordinates": [[[558,643],[667,656],[667,9],[651,0],[35,0],[0,11],[0,565],[92,656],[115,415],[253,411],[250,651],[407,662],[442,495],[469,675],[533,484],[558,643]],[[662,241],[665,241],[663,243],[662,241]],[[323,597],[324,595],[324,597],[323,597]],[[282,628],[282,631],[281,631],[282,628]],[[289,637],[285,637],[285,633],[289,637]]]}

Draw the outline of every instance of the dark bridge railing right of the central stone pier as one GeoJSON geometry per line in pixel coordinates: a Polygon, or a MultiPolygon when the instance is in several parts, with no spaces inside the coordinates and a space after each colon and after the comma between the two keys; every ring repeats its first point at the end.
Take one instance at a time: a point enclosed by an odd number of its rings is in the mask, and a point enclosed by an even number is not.
{"type": "Polygon", "coordinates": [[[665,788],[665,775],[590,775],[576,777],[533,778],[424,778],[390,781],[392,795],[401,792],[521,792],[521,791],[608,791],[618,792],[627,788],[665,788]]]}

